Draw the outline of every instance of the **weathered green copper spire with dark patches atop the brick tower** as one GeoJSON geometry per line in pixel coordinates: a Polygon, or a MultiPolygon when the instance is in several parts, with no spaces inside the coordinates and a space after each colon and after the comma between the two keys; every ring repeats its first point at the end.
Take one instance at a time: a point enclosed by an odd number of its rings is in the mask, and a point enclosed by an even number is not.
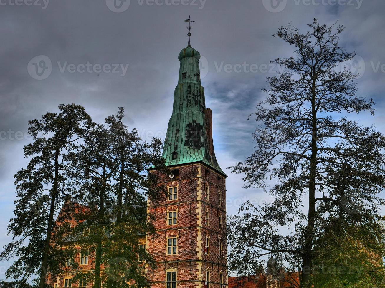
{"type": "Polygon", "coordinates": [[[178,56],[181,61],[179,81],[174,91],[163,157],[167,166],[203,162],[226,176],[214,154],[211,109],[206,109],[204,102],[204,88],[199,73],[200,58],[201,55],[191,47],[189,39],[187,47],[178,56]]]}

